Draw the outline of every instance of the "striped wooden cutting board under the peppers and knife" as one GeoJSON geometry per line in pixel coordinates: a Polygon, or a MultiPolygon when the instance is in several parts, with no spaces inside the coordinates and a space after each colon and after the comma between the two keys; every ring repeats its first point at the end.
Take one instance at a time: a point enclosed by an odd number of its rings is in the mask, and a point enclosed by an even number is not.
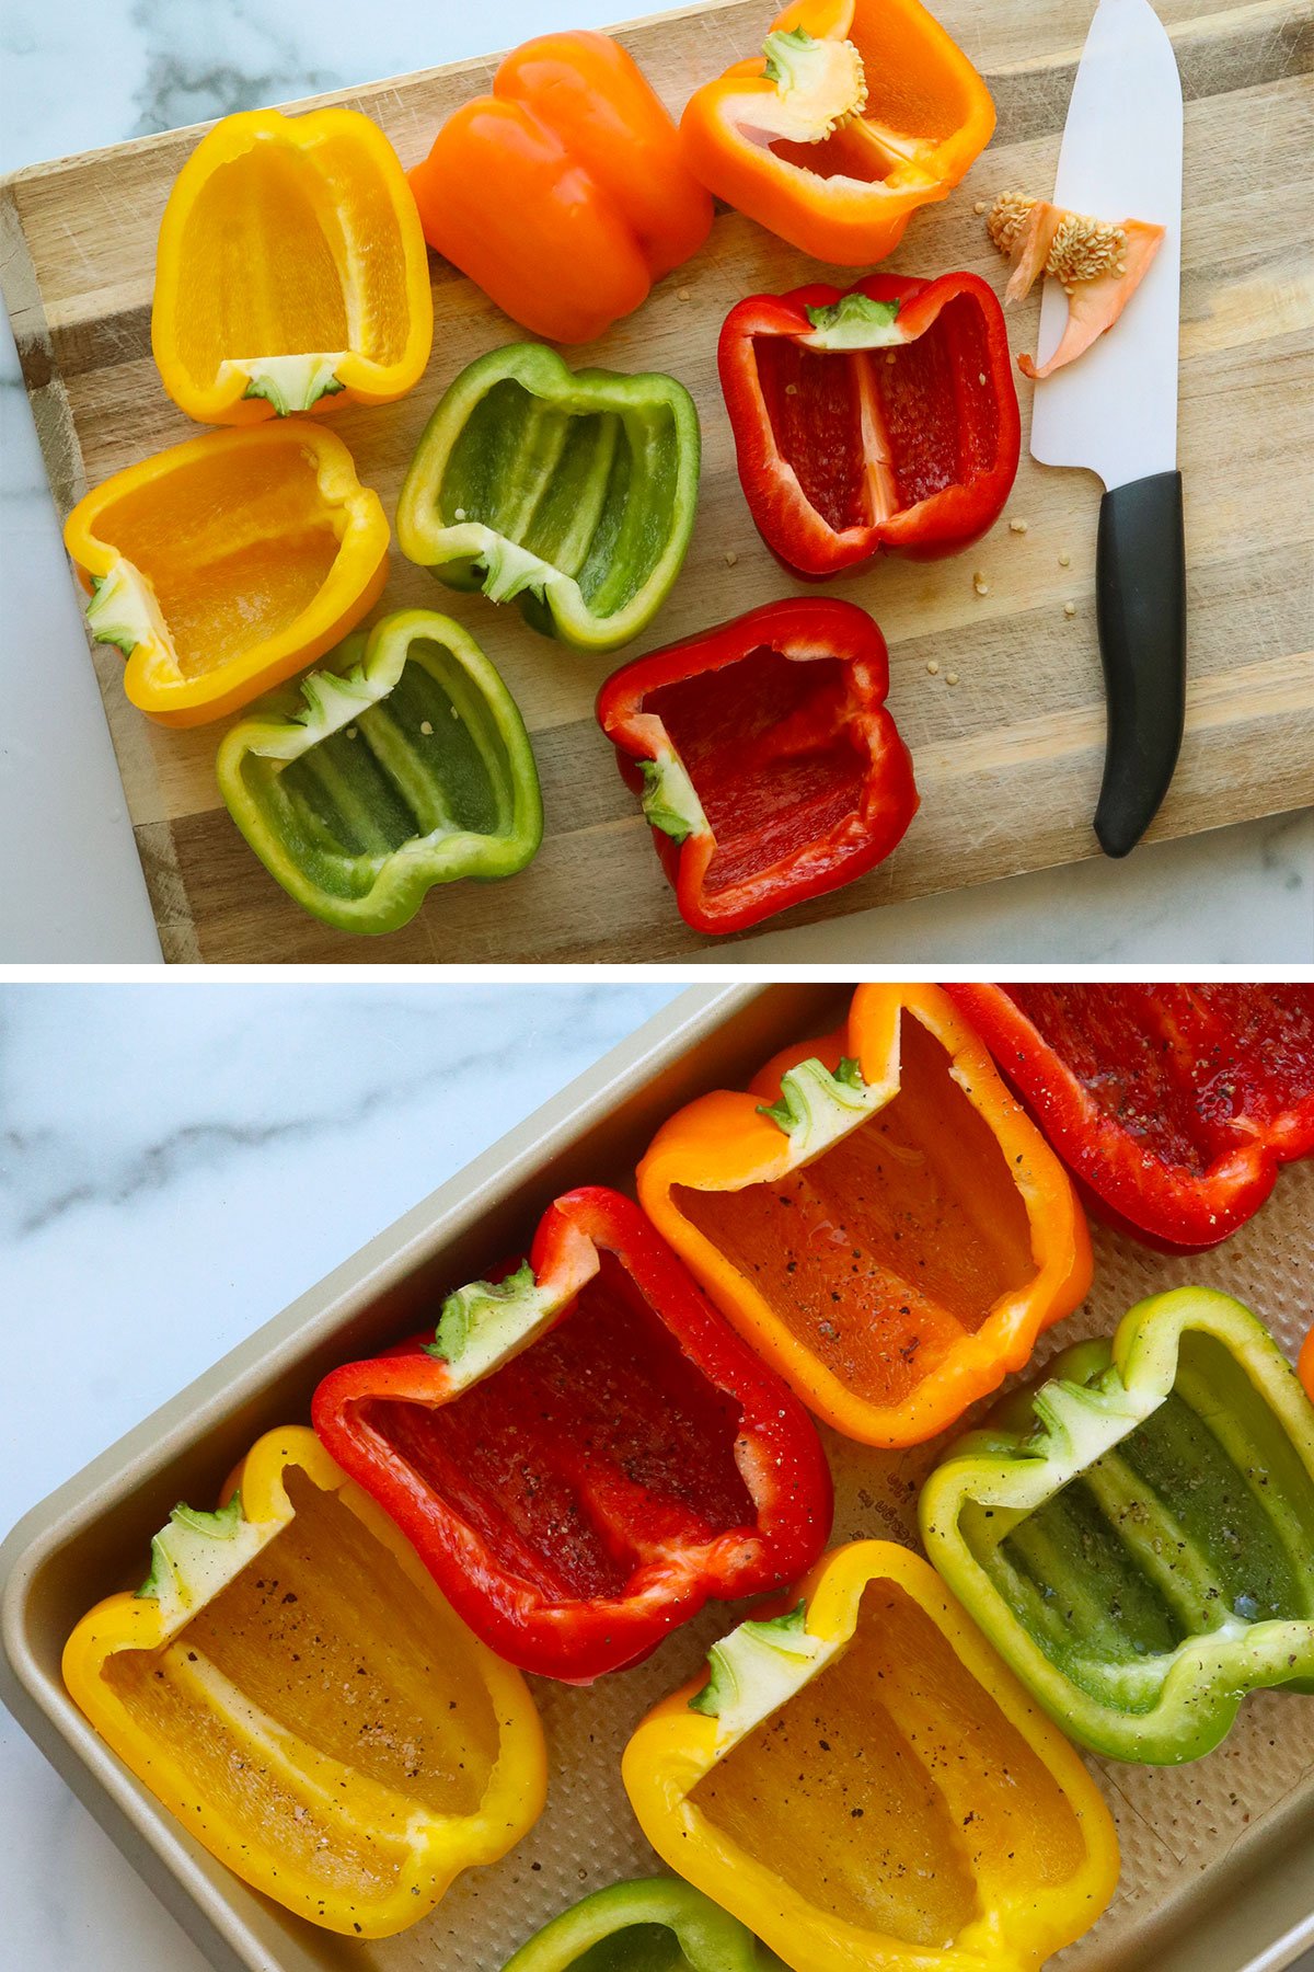
{"type": "MultiPolygon", "coordinates": [[[[772,0],[725,0],[619,37],[678,112],[699,81],[760,45],[772,12],[772,0]]],[[[938,12],[987,77],[999,128],[957,193],[918,213],[887,264],[924,276],[975,268],[1003,292],[1003,262],[973,207],[1011,185],[1050,189],[1091,0],[938,0],[938,12]]],[[[1162,0],[1158,12],[1186,97],[1180,465],[1192,682],[1182,761],[1152,836],[1182,836],[1314,803],[1310,32],[1300,0],[1162,0]]],[[[412,166],[494,67],[494,57],[467,61],[317,101],[366,110],[412,166]]],[[[0,183],[4,298],[61,517],[89,485],[195,434],[160,387],[150,298],[160,215],[197,136],[138,138],[0,183]]],[[[390,513],[443,387],[471,357],[522,333],[451,266],[433,258],[431,270],[424,383],[400,404],[349,406],[331,420],[390,513]]],[[[593,696],[626,657],[796,588],[758,542],[739,491],[715,343],[745,294],[816,278],[816,262],[723,211],[695,260],[601,343],[571,353],[575,363],[672,371],[703,420],[701,507],[684,574],[648,635],[621,657],[579,657],[534,635],[512,607],[439,588],[394,550],[380,607],[422,603],[461,617],[534,736],[548,832],[518,878],[433,891],[388,939],[327,931],[278,889],[229,820],[213,773],[223,726],[154,726],[122,694],[118,653],[93,649],[167,958],[670,960],[713,945],[676,913],[593,722],[593,696]]],[[[1036,347],[1036,316],[1038,294],[1011,316],[1015,351],[1036,347]]],[[[841,586],[888,639],[890,706],[912,747],[922,810],[881,870],[776,927],[1097,854],[1099,483],[1030,461],[1022,379],[1018,394],[1022,465],[995,532],[953,560],[885,560],[841,586]],[[1026,530],[1011,532],[1011,517],[1026,530]],[[973,588],[977,570],[985,596],[973,588]]]]}

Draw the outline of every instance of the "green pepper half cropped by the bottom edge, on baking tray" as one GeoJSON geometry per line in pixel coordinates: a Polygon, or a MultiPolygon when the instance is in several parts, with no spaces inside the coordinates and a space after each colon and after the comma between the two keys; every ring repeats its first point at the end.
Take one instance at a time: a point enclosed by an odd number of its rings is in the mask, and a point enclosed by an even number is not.
{"type": "Polygon", "coordinates": [[[776,1966],[776,1954],[711,1897],[672,1875],[652,1875],[595,1889],[536,1931],[502,1972],[772,1972],[776,1966]]]}

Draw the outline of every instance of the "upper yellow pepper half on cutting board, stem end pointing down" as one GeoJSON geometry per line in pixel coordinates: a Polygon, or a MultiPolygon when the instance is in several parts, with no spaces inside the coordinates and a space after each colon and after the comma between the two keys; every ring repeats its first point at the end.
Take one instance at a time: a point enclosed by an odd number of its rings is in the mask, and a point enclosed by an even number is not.
{"type": "Polygon", "coordinates": [[[382,130],[343,108],[215,124],[164,209],[150,337],[201,424],[404,396],[429,361],[433,294],[382,130]]]}

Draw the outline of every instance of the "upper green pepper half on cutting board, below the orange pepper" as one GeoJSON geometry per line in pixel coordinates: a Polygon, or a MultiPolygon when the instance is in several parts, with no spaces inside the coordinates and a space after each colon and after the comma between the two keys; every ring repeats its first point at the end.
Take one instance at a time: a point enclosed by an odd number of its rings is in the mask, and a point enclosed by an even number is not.
{"type": "Polygon", "coordinates": [[[510,343],[443,392],[398,540],[447,588],[514,599],[577,651],[615,651],[680,574],[697,471],[697,410],[674,377],[571,371],[542,343],[510,343]]]}

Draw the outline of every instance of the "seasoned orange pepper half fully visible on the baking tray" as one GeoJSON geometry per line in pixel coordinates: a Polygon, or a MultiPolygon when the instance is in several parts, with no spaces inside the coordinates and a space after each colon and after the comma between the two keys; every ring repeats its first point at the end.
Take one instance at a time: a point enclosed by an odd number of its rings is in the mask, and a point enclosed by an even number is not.
{"type": "Polygon", "coordinates": [[[1091,1278],[1072,1183],[938,986],[658,1130],[638,1197],[725,1317],[845,1438],[916,1445],[1020,1369],[1091,1278]]]}

